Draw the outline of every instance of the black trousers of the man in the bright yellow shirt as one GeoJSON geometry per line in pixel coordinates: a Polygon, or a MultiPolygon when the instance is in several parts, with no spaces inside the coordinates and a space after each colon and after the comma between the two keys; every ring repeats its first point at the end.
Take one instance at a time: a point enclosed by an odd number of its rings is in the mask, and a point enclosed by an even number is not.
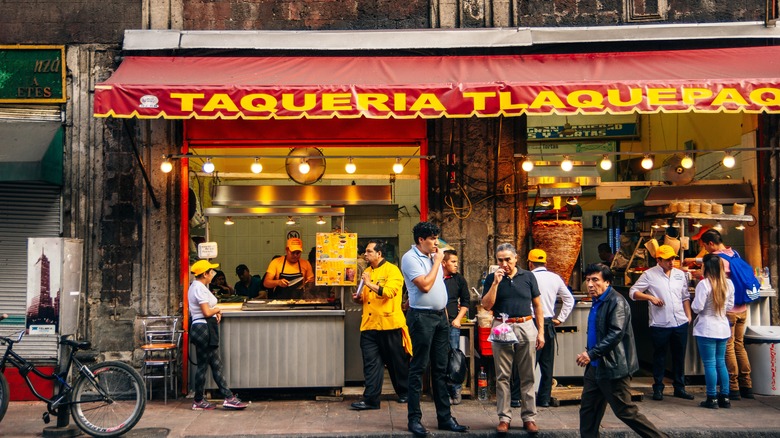
{"type": "Polygon", "coordinates": [[[363,352],[363,376],[366,378],[363,401],[379,406],[385,366],[395,393],[406,397],[409,392],[409,355],[404,351],[401,329],[361,332],[360,350],[363,352]]]}

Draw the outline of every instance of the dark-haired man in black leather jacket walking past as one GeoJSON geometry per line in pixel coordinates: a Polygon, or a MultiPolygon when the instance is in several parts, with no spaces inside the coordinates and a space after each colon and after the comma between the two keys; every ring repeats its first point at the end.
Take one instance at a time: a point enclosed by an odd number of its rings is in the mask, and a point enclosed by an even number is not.
{"type": "Polygon", "coordinates": [[[631,401],[631,374],[639,369],[631,329],[631,309],[613,290],[612,270],[602,263],[585,269],[585,284],[593,303],[588,315],[588,347],[577,355],[585,368],[580,403],[580,436],[598,437],[607,403],[615,416],[643,437],[668,437],[639,413],[631,401]]]}

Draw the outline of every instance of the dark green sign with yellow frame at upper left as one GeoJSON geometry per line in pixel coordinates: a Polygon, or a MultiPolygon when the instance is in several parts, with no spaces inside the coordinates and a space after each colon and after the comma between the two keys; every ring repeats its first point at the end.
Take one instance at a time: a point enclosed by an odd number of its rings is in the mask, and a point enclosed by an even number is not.
{"type": "Polygon", "coordinates": [[[65,46],[0,46],[0,103],[63,103],[65,71],[65,46]]]}

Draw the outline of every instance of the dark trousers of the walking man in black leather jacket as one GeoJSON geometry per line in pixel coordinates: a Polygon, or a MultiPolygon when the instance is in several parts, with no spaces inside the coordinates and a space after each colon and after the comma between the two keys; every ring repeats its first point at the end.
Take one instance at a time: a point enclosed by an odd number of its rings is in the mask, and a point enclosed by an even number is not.
{"type": "Polygon", "coordinates": [[[668,437],[659,431],[650,420],[639,413],[639,408],[631,401],[629,392],[630,377],[621,379],[596,379],[596,369],[588,365],[582,386],[580,402],[580,436],[598,437],[601,419],[607,410],[607,404],[615,416],[642,437],[668,437]]]}

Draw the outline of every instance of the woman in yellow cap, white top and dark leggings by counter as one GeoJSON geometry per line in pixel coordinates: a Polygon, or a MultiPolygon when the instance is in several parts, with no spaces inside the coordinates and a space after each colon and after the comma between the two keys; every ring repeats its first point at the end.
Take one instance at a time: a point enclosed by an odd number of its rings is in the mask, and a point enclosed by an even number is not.
{"type": "Polygon", "coordinates": [[[219,265],[208,260],[198,260],[190,268],[195,275],[187,293],[187,304],[192,322],[190,324],[190,342],[195,346],[197,369],[193,386],[195,401],[192,410],[211,410],[214,405],[203,398],[203,387],[206,385],[206,370],[211,366],[211,375],[225,396],[222,407],[225,409],[244,409],[241,402],[227,386],[222,375],[222,358],[219,355],[219,322],[222,320],[222,310],[217,306],[217,297],[209,290],[208,285],[217,274],[215,268],[219,265]]]}

